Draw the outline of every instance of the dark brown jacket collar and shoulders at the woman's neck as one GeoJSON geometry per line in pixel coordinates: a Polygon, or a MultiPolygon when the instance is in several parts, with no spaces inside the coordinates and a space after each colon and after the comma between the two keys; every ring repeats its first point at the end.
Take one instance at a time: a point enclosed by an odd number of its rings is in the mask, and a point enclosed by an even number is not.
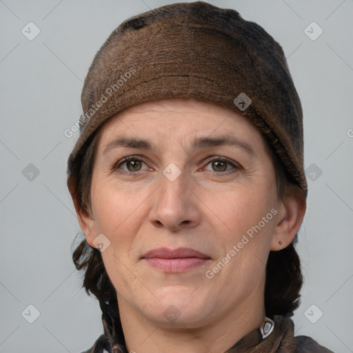
{"type": "MultiPolygon", "coordinates": [[[[258,328],[243,336],[225,353],[333,353],[310,337],[294,337],[292,319],[277,315],[274,316],[273,321],[274,330],[270,336],[262,339],[261,331],[258,328]]],[[[99,336],[90,350],[83,353],[128,353],[121,325],[114,329],[112,325],[108,325],[104,314],[102,322],[104,334],[99,336]]]]}

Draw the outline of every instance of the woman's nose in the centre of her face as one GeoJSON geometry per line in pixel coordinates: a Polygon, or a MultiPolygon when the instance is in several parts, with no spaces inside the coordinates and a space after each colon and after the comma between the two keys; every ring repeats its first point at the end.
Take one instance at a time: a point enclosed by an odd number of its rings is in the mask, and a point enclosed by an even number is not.
{"type": "Polygon", "coordinates": [[[194,228],[201,220],[199,202],[183,173],[174,181],[162,174],[159,188],[152,195],[150,223],[172,231],[194,228]]]}

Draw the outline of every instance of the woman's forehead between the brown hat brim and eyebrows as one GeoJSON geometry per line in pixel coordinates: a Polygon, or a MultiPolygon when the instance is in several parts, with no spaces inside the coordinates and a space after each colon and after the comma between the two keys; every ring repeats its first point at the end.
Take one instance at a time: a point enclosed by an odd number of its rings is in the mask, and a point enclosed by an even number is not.
{"type": "Polygon", "coordinates": [[[99,147],[104,148],[119,135],[177,142],[224,134],[252,144],[264,143],[261,132],[248,118],[230,108],[194,99],[161,99],[134,105],[106,121],[99,147]]]}

